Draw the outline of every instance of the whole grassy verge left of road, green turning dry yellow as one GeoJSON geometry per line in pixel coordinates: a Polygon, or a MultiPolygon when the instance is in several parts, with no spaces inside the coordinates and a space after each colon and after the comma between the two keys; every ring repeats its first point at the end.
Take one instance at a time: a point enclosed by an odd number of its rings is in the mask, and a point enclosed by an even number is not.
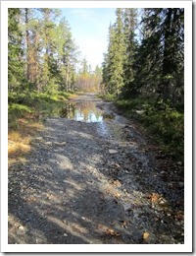
{"type": "Polygon", "coordinates": [[[8,156],[19,160],[30,153],[33,136],[43,129],[47,116],[58,115],[71,93],[58,92],[55,95],[23,93],[9,94],[8,108],[8,156]]]}

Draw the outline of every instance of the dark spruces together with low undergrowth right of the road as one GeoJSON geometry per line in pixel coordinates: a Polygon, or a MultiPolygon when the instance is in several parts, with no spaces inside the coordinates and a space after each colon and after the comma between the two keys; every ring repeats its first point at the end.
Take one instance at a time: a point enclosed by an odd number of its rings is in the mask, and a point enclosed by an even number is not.
{"type": "Polygon", "coordinates": [[[183,161],[184,10],[117,9],[103,63],[102,97],[139,121],[183,161]]]}

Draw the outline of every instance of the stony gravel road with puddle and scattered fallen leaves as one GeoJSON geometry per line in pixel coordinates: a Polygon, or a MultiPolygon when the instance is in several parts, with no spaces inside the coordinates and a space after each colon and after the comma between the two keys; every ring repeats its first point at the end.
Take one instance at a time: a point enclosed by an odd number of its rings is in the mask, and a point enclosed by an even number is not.
{"type": "Polygon", "coordinates": [[[72,101],[80,112],[48,118],[27,161],[9,169],[9,243],[183,243],[177,165],[113,104],[72,101]]]}

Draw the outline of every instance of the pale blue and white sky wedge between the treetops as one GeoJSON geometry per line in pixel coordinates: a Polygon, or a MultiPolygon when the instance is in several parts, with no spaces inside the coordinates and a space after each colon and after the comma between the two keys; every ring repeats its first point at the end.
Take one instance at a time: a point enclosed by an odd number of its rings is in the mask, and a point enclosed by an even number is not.
{"type": "Polygon", "coordinates": [[[101,66],[103,53],[108,47],[110,23],[116,21],[116,8],[66,8],[61,9],[66,17],[73,38],[79,46],[80,58],[86,58],[92,69],[101,66]]]}

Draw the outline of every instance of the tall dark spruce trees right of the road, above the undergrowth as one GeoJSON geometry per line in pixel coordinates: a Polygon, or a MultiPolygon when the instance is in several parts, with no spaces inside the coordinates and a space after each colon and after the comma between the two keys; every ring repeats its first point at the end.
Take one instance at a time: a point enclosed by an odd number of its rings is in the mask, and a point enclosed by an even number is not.
{"type": "Polygon", "coordinates": [[[109,28],[102,87],[123,98],[183,104],[184,9],[117,9],[109,28]]]}

